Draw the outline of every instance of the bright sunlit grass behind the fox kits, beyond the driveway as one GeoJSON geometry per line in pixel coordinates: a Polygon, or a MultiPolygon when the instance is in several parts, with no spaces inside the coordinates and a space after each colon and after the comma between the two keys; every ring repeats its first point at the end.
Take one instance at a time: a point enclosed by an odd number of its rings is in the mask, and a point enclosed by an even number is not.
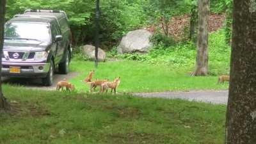
{"type": "MultiPolygon", "coordinates": [[[[72,61],[72,71],[80,75],[71,80],[77,90],[88,92],[88,84],[82,81],[90,70],[95,69],[93,62],[72,61]]],[[[138,61],[108,61],[99,63],[93,79],[109,80],[121,77],[118,92],[164,92],[180,90],[225,90],[228,83],[217,84],[217,76],[191,77],[193,67],[173,68],[167,65],[150,65],[138,61]]]]}

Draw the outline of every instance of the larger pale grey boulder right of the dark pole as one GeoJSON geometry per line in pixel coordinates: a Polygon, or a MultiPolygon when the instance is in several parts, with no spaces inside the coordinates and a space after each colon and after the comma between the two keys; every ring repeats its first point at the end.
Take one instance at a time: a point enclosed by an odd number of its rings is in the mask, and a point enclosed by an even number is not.
{"type": "Polygon", "coordinates": [[[122,41],[117,47],[119,54],[132,53],[132,52],[148,52],[152,47],[150,37],[153,34],[146,29],[139,29],[130,31],[122,38],[122,41]]]}

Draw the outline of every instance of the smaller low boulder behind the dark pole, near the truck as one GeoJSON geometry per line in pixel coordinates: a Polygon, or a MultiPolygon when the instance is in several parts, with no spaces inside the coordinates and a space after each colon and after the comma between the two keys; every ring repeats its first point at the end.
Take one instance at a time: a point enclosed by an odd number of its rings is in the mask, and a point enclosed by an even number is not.
{"type": "MultiPolygon", "coordinates": [[[[83,46],[83,54],[88,56],[90,60],[95,60],[95,47],[93,45],[84,45],[83,46]]],[[[98,49],[98,61],[106,60],[106,52],[102,49],[98,49]]]]}

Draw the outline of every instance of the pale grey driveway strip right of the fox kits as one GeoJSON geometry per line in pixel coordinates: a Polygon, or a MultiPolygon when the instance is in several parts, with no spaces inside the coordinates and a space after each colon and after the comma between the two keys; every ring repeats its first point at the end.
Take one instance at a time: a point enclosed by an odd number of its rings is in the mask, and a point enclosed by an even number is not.
{"type": "Polygon", "coordinates": [[[196,102],[209,102],[212,104],[227,104],[228,91],[190,91],[190,92],[159,92],[159,93],[134,93],[139,97],[159,97],[164,99],[184,99],[196,102]]]}

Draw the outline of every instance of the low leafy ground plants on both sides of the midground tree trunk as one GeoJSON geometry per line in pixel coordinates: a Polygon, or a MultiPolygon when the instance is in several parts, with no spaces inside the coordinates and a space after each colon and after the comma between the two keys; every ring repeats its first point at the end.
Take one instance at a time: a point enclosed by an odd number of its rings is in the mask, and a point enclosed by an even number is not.
{"type": "MultiPolygon", "coordinates": [[[[116,57],[152,64],[164,63],[164,65],[172,65],[172,67],[194,67],[195,56],[196,45],[193,42],[187,42],[169,47],[159,44],[148,54],[122,54],[116,57]]],[[[223,29],[211,33],[209,36],[209,66],[210,74],[213,76],[228,74],[229,72],[230,45],[225,42],[223,29]]]]}

